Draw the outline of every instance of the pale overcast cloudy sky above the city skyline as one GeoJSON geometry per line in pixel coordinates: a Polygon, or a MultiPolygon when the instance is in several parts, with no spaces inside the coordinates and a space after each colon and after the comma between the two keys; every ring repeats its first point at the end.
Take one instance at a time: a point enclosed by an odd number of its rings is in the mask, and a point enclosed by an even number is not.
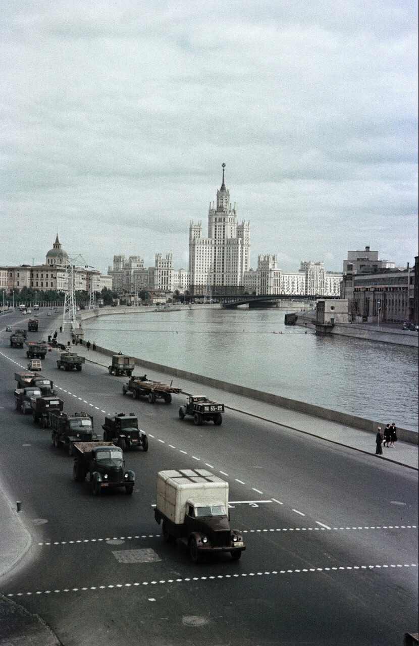
{"type": "Polygon", "coordinates": [[[253,268],[418,253],[416,0],[1,5],[0,264],[188,268],[223,161],[253,268]]]}

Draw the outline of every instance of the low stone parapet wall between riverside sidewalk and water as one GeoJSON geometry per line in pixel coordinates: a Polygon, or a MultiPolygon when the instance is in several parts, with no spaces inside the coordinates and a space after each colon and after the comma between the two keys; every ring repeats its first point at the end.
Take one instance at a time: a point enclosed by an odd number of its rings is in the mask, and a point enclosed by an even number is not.
{"type": "MultiPolygon", "coordinates": [[[[128,307],[128,309],[131,311],[131,307],[128,307]]],[[[104,355],[107,355],[109,357],[112,357],[115,354],[114,350],[101,348],[100,346],[96,346],[96,351],[102,352],[104,355]]],[[[358,428],[374,434],[377,432],[377,426],[385,428],[385,424],[387,423],[377,422],[371,419],[365,419],[363,417],[356,417],[355,415],[341,413],[337,410],[331,410],[330,408],[323,408],[322,406],[315,406],[314,404],[301,402],[297,399],[288,399],[287,397],[273,395],[272,393],[265,393],[264,391],[255,390],[254,388],[246,388],[245,386],[239,386],[239,384],[230,384],[228,382],[220,381],[219,379],[204,377],[204,375],[197,375],[193,372],[179,370],[178,368],[171,368],[170,366],[162,366],[152,361],[138,359],[137,357],[134,357],[134,359],[136,365],[141,366],[142,368],[156,370],[167,375],[172,375],[173,377],[188,379],[199,384],[204,384],[205,386],[211,386],[211,388],[217,388],[218,390],[235,393],[236,395],[242,395],[242,397],[248,397],[257,401],[266,402],[267,404],[273,404],[274,406],[280,406],[281,408],[287,408],[288,410],[305,413],[306,415],[320,417],[321,419],[328,419],[332,422],[338,422],[338,424],[352,426],[353,428],[358,428]]],[[[407,428],[398,428],[398,439],[410,444],[418,444],[418,438],[419,433],[416,433],[415,431],[409,430],[407,428]]]]}

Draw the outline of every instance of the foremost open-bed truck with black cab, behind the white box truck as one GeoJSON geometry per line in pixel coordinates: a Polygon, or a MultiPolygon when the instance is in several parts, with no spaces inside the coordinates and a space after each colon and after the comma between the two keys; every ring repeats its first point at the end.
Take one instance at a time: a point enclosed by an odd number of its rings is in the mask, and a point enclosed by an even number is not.
{"type": "Polygon", "coordinates": [[[102,494],[105,488],[124,487],[127,494],[134,491],[135,474],[125,471],[124,453],[111,442],[74,443],[73,477],[83,482],[89,476],[94,495],[102,494]]]}

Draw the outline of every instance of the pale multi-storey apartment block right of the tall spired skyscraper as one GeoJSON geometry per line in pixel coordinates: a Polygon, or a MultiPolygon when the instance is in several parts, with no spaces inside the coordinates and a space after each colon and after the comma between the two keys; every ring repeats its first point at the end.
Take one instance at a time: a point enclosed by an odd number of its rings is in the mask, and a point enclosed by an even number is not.
{"type": "Polygon", "coordinates": [[[290,296],[339,296],[342,275],[325,270],[324,262],[301,261],[299,271],[285,272],[277,267],[277,255],[260,255],[257,269],[244,273],[248,293],[286,294],[290,296]]]}

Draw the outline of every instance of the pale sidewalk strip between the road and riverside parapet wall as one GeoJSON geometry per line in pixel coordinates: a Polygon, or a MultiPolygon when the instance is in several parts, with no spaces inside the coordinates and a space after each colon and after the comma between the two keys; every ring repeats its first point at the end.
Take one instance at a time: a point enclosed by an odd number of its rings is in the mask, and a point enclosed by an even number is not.
{"type": "MultiPolygon", "coordinates": [[[[64,335],[61,336],[64,337],[64,335]]],[[[72,351],[77,351],[78,354],[86,357],[86,360],[99,366],[103,366],[103,368],[107,368],[111,363],[110,357],[102,354],[98,350],[88,350],[84,345],[80,346],[80,344],[76,347],[71,346],[71,348],[72,351]]],[[[383,446],[383,455],[377,456],[375,455],[376,445],[375,435],[373,433],[352,428],[351,426],[337,424],[336,422],[330,422],[328,420],[321,419],[320,417],[313,417],[311,415],[305,415],[304,413],[294,412],[287,408],[280,408],[279,406],[266,404],[264,402],[257,401],[256,399],[241,397],[240,395],[229,393],[228,391],[222,391],[220,393],[220,391],[215,388],[202,386],[202,384],[197,384],[196,382],[187,379],[181,379],[180,377],[172,377],[164,372],[151,372],[149,368],[145,368],[144,371],[147,372],[150,379],[162,381],[163,383],[170,382],[173,379],[175,381],[174,385],[178,388],[182,388],[182,390],[187,394],[202,393],[202,390],[205,390],[204,394],[208,395],[210,399],[219,401],[220,398],[222,398],[224,406],[231,410],[237,410],[242,413],[246,413],[247,415],[258,417],[259,419],[272,421],[285,428],[290,428],[292,430],[305,433],[306,435],[313,435],[314,437],[319,437],[330,443],[347,446],[348,448],[371,455],[371,458],[374,460],[384,459],[396,464],[403,464],[403,466],[408,466],[416,470],[419,468],[418,446],[415,446],[414,444],[398,441],[394,448],[386,448],[383,446]]],[[[140,372],[141,368],[136,368],[136,373],[140,372]]]]}

